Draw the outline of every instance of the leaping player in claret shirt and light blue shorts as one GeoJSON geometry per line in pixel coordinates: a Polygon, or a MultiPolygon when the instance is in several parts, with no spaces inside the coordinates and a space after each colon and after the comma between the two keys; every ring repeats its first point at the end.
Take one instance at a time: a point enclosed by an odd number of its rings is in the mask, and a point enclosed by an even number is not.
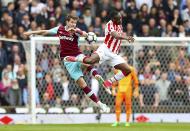
{"type": "MultiPolygon", "coordinates": [[[[78,17],[68,15],[66,18],[66,26],[60,25],[58,27],[52,28],[50,30],[38,30],[38,31],[30,31],[25,32],[24,35],[31,35],[31,34],[42,34],[42,35],[57,35],[60,39],[60,58],[61,60],[64,59],[65,56],[80,56],[82,52],[78,46],[78,39],[80,36],[88,37],[88,33],[85,31],[81,31],[80,29],[76,28],[76,24],[78,21],[78,17]]],[[[64,65],[69,72],[70,76],[76,81],[79,87],[84,91],[84,93],[97,105],[101,108],[103,112],[107,112],[109,108],[106,104],[103,104],[99,101],[97,96],[92,92],[91,88],[89,88],[83,78],[83,73],[81,70],[82,64],[80,62],[64,62],[64,65]]],[[[91,74],[100,82],[103,83],[103,78],[98,74],[97,70],[92,68],[92,66],[86,65],[87,71],[90,71],[91,74]]],[[[107,90],[110,92],[110,90],[107,90]]]]}

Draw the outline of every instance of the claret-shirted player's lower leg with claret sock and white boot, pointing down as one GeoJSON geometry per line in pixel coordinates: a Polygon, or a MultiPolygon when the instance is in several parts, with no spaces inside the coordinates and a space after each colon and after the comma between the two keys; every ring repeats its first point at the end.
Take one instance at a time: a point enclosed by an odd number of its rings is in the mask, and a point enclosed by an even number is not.
{"type": "Polygon", "coordinates": [[[98,98],[97,96],[93,93],[93,91],[91,90],[91,88],[89,88],[85,82],[85,80],[83,79],[83,77],[80,77],[76,83],[79,85],[79,87],[83,90],[83,92],[95,103],[97,103],[97,105],[101,108],[101,110],[103,112],[108,112],[109,108],[107,107],[106,104],[103,104],[98,98]]]}

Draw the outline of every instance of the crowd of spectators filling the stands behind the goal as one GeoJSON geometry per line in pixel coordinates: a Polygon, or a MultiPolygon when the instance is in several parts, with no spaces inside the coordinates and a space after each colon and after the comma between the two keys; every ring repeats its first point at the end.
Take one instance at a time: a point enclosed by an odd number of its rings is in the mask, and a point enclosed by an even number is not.
{"type": "MultiPolygon", "coordinates": [[[[50,29],[64,23],[68,13],[79,17],[78,27],[104,37],[109,13],[119,11],[124,33],[138,37],[190,36],[190,0],[0,0],[0,36],[28,40],[24,31],[50,29]]],[[[96,48],[96,47],[94,47],[96,48]]],[[[92,53],[83,46],[86,54],[92,53]]],[[[131,48],[122,47],[129,57],[131,48]]],[[[86,106],[83,93],[67,78],[58,48],[43,45],[37,49],[36,102],[38,106],[86,106]]],[[[140,105],[188,105],[190,102],[190,50],[188,48],[150,48],[137,52],[140,105]]],[[[107,65],[99,71],[111,72],[107,65]]],[[[109,77],[102,73],[103,77],[109,77]]],[[[89,76],[89,74],[87,75],[89,76]]],[[[28,105],[26,53],[21,43],[0,41],[0,105],[28,105]]],[[[87,77],[89,84],[97,86],[87,77]]],[[[98,90],[98,87],[94,87],[98,90]]],[[[99,97],[113,105],[113,97],[99,88],[99,97]]]]}

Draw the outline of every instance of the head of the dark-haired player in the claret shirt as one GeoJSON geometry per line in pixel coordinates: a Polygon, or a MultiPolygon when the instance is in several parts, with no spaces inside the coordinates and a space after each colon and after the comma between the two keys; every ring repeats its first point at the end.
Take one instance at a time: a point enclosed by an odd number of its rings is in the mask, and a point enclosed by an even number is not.
{"type": "Polygon", "coordinates": [[[69,28],[76,28],[78,19],[79,18],[77,16],[68,15],[66,17],[66,26],[68,26],[69,28]]]}

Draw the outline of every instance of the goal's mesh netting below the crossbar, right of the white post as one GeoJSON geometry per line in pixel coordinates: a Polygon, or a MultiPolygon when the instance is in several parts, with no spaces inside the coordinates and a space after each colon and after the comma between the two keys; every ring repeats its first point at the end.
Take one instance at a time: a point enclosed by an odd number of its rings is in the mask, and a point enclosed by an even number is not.
{"type": "MultiPolygon", "coordinates": [[[[68,76],[58,58],[57,42],[36,41],[36,80],[40,104],[45,107],[88,107],[88,99],[68,76]]],[[[83,43],[80,47],[86,55],[98,47],[83,43]]],[[[138,71],[140,102],[134,100],[135,112],[189,112],[190,52],[187,42],[141,40],[133,45],[123,44],[120,53],[126,55],[128,63],[138,71]]],[[[112,68],[106,63],[96,67],[104,79],[113,75],[112,68]]],[[[100,100],[114,111],[115,98],[106,94],[89,73],[85,73],[85,80],[100,100]]]]}

